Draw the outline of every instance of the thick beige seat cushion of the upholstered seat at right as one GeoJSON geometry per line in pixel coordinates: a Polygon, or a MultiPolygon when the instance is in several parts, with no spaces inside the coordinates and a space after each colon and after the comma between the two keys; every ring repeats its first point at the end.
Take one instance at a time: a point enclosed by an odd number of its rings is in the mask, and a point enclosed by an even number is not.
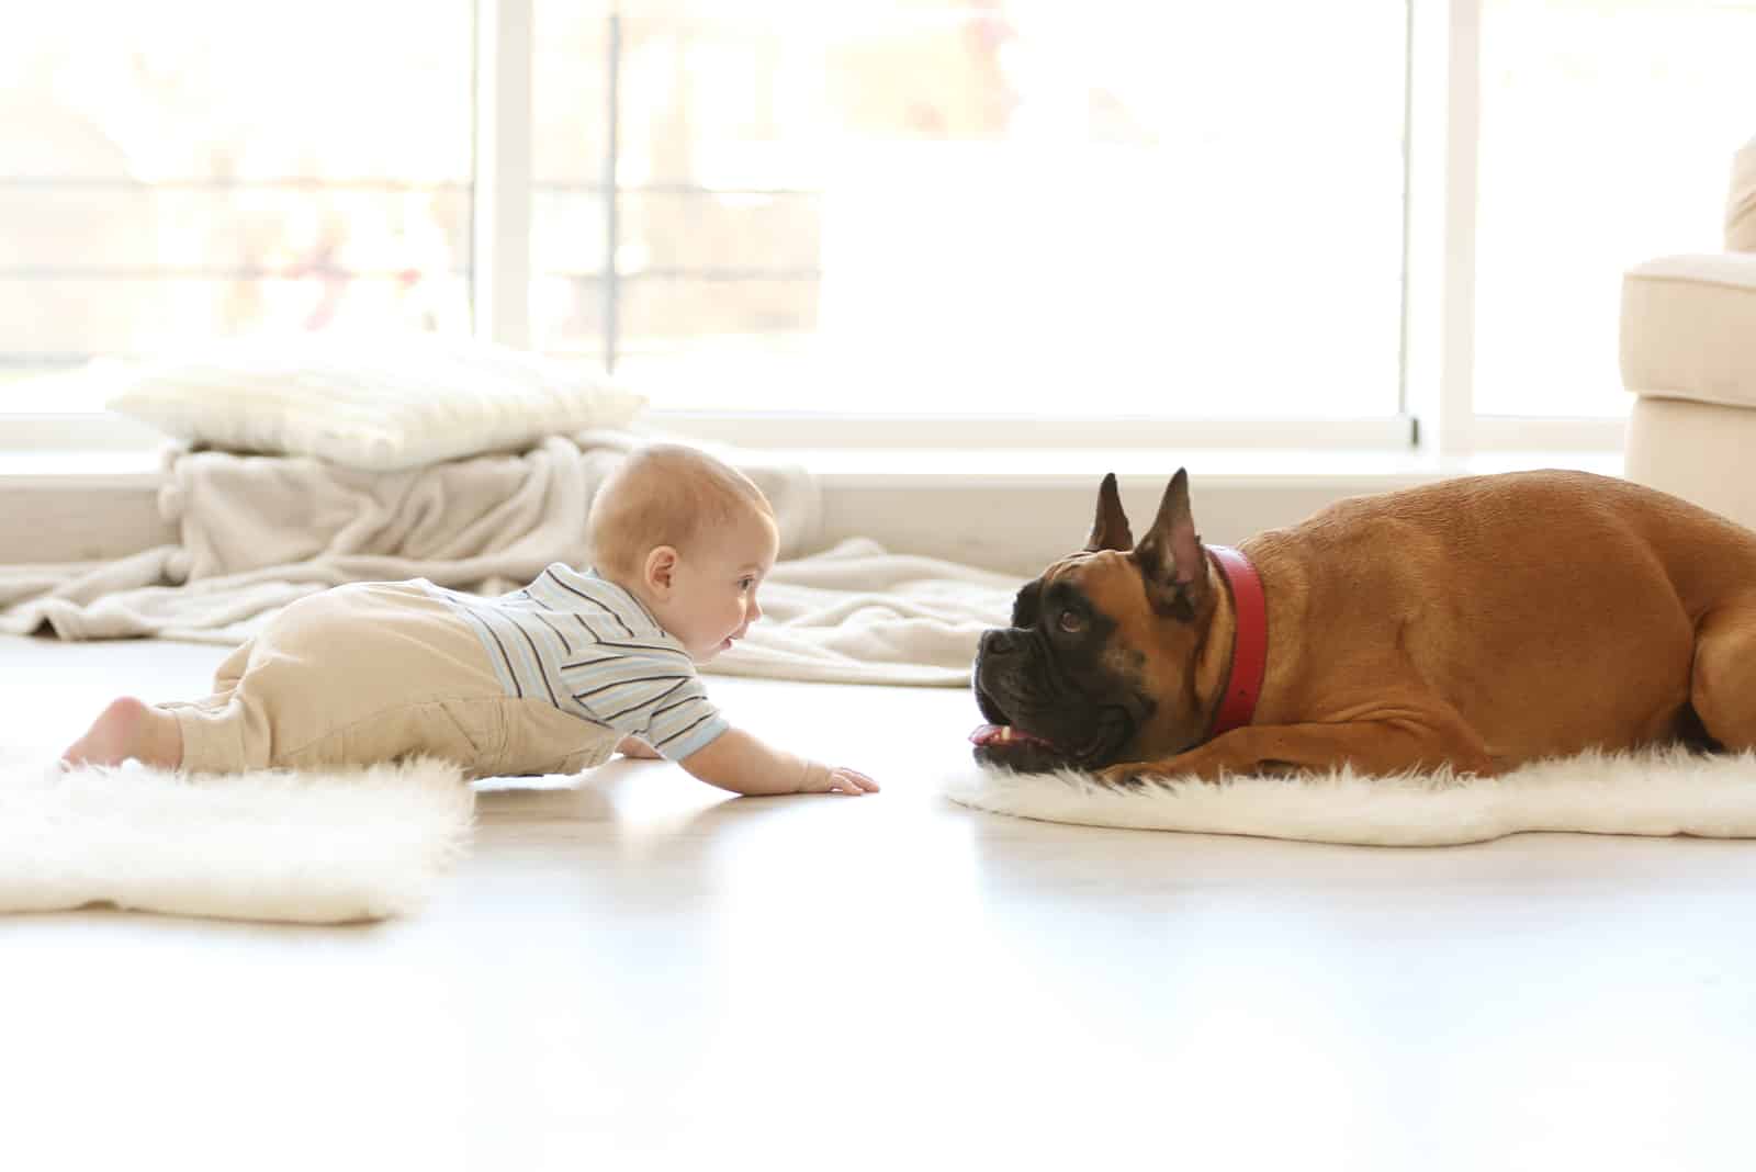
{"type": "Polygon", "coordinates": [[[1623,277],[1623,386],[1756,407],[1756,253],[1661,256],[1623,277]]]}

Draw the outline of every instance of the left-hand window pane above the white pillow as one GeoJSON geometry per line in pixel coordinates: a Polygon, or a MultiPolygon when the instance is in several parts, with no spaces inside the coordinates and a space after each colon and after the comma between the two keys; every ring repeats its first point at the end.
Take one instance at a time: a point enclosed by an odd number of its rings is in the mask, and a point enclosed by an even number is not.
{"type": "MultiPolygon", "coordinates": [[[[467,333],[471,7],[9,5],[0,379],[253,332],[467,333]]],[[[0,409],[49,407],[0,381],[0,409]]]]}

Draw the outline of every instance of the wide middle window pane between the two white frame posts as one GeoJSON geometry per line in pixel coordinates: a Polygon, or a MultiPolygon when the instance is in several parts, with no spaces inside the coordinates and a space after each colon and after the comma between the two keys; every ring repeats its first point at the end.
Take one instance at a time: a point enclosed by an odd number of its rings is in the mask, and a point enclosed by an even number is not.
{"type": "Polygon", "coordinates": [[[609,312],[594,9],[536,5],[544,349],[662,407],[1398,409],[1398,0],[636,5],[609,312]]]}

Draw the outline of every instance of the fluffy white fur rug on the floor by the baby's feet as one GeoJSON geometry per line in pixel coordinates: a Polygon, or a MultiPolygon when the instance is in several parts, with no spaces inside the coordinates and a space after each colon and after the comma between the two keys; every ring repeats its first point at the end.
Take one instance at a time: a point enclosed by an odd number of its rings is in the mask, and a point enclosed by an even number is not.
{"type": "Polygon", "coordinates": [[[381,919],[425,904],[472,818],[448,761],[181,777],[0,758],[0,911],[381,919]]]}

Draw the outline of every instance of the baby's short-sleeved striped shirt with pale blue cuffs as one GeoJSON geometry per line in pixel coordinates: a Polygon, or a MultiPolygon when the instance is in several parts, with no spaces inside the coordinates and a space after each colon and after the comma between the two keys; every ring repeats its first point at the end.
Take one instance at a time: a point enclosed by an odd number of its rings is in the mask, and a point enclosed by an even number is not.
{"type": "Polygon", "coordinates": [[[695,663],[641,602],[557,561],[523,590],[465,595],[423,579],[481,637],[506,695],[548,700],[681,761],[729,728],[695,663]]]}

